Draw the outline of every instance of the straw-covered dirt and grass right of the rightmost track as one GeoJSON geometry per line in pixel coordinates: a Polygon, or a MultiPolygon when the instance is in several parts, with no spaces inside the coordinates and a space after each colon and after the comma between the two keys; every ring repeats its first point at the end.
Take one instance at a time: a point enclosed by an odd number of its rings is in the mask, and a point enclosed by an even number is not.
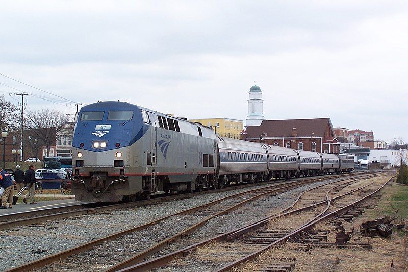
{"type": "MultiPolygon", "coordinates": [[[[372,249],[361,247],[338,249],[331,248],[304,248],[296,243],[286,243],[260,256],[259,262],[247,263],[240,267],[240,271],[260,270],[268,265],[287,263],[287,258],[296,258],[296,268],[292,271],[407,271],[408,250],[407,234],[403,230],[393,229],[393,234],[387,238],[362,237],[360,224],[385,215],[393,215],[399,209],[399,216],[406,219],[408,213],[408,187],[396,183],[384,189],[375,209],[366,210],[363,215],[354,218],[351,223],[343,222],[346,231],[355,227],[352,243],[368,242],[372,249]],[[393,265],[393,268],[391,266],[393,265]]],[[[395,224],[399,223],[396,222],[395,224]]],[[[408,221],[407,221],[408,222],[408,221]]],[[[329,225],[321,224],[316,228],[327,230],[329,225]]],[[[334,242],[336,230],[330,229],[328,241],[334,242]]]]}

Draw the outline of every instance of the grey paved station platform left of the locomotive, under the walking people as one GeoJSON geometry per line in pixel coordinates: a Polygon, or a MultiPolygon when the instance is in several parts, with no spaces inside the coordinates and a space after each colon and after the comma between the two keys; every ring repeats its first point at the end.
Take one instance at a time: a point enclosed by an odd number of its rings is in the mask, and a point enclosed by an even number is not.
{"type": "MultiPolygon", "coordinates": [[[[58,194],[56,194],[58,195],[58,194]]],[[[0,209],[0,217],[4,214],[11,214],[11,213],[19,213],[19,212],[27,212],[27,211],[35,211],[35,210],[40,210],[40,209],[46,209],[46,208],[56,208],[56,207],[64,207],[64,206],[71,206],[71,205],[77,205],[77,204],[87,204],[87,203],[92,203],[92,202],[86,202],[86,201],[75,201],[73,195],[61,195],[63,196],[60,197],[58,200],[46,200],[46,201],[39,201],[38,199],[40,197],[57,197],[54,196],[54,194],[37,194],[35,195],[34,201],[37,203],[35,205],[32,204],[24,204],[21,202],[21,200],[18,200],[18,202],[13,205],[12,209],[0,209]],[[71,197],[66,197],[66,196],[71,196],[71,197]],[[38,198],[37,198],[38,197],[38,198]]],[[[22,197],[21,197],[22,199],[22,197]]]]}

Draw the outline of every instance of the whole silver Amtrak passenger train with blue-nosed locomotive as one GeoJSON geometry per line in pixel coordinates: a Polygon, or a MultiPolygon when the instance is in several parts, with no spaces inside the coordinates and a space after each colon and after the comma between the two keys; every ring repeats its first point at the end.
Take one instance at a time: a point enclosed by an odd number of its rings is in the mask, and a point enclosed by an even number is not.
{"type": "Polygon", "coordinates": [[[352,156],[217,137],[207,126],[125,102],[83,107],[72,146],[72,192],[80,201],[134,201],[156,191],[354,169],[352,156]]]}

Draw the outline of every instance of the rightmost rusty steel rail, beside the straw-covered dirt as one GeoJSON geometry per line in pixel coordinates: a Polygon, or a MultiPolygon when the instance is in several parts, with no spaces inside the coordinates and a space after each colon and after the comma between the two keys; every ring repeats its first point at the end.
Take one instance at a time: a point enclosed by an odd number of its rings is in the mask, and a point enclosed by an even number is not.
{"type": "MultiPolygon", "coordinates": [[[[392,178],[393,178],[393,177],[392,177],[392,178]]],[[[378,189],[375,190],[374,192],[372,192],[372,193],[370,193],[370,194],[368,194],[368,195],[362,197],[361,199],[359,199],[359,200],[357,200],[357,201],[354,201],[354,202],[352,202],[352,203],[350,203],[350,204],[348,204],[348,205],[346,205],[346,206],[344,206],[344,207],[342,207],[342,208],[339,208],[339,209],[337,209],[337,210],[335,210],[335,211],[332,211],[332,212],[330,212],[330,213],[328,213],[328,214],[326,214],[326,215],[324,215],[324,216],[322,216],[322,217],[320,217],[320,218],[314,218],[314,219],[310,220],[307,224],[304,224],[302,227],[296,229],[295,231],[291,232],[290,234],[288,234],[288,235],[286,235],[286,236],[284,236],[284,237],[282,237],[282,238],[280,238],[280,239],[278,239],[278,240],[272,242],[271,244],[265,246],[264,248],[262,248],[262,249],[260,249],[260,250],[258,250],[258,251],[256,251],[256,252],[254,252],[254,253],[252,253],[252,254],[250,254],[250,255],[247,255],[247,256],[245,256],[245,257],[243,257],[243,258],[241,258],[241,259],[239,259],[239,260],[237,260],[237,261],[235,261],[235,262],[233,262],[233,263],[231,263],[231,264],[225,265],[224,267],[222,267],[222,268],[220,268],[219,270],[217,270],[217,272],[220,272],[220,271],[229,271],[229,270],[231,270],[232,268],[237,267],[238,265],[240,265],[240,264],[242,264],[242,263],[244,263],[244,262],[246,262],[246,261],[254,260],[254,259],[257,258],[261,253],[263,253],[263,252],[269,250],[269,249],[272,248],[273,246],[275,246],[275,245],[277,245],[277,244],[279,244],[279,243],[282,243],[283,241],[286,241],[286,240],[288,240],[288,239],[290,239],[290,238],[292,238],[292,237],[294,237],[294,236],[296,236],[296,235],[299,235],[299,234],[301,234],[302,232],[304,232],[304,231],[307,230],[307,229],[312,228],[313,226],[315,226],[315,225],[317,224],[317,222],[323,221],[323,220],[325,220],[325,219],[334,217],[334,216],[337,215],[337,214],[341,214],[341,213],[344,213],[344,212],[346,212],[346,211],[351,210],[351,209],[354,208],[355,206],[357,206],[357,205],[359,205],[360,203],[366,201],[366,200],[369,199],[371,196],[373,196],[374,194],[376,194],[377,192],[379,192],[382,188],[384,188],[384,187],[391,181],[392,178],[390,178],[390,179],[389,179],[386,183],[384,183],[380,188],[378,188],[378,189]]]]}

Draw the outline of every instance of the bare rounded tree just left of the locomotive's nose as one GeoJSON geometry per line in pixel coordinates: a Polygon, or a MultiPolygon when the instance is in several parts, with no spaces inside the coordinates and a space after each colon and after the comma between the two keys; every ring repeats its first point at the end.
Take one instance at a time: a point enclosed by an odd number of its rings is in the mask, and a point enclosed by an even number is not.
{"type": "Polygon", "coordinates": [[[69,117],[58,110],[46,108],[38,111],[29,111],[27,119],[27,127],[45,144],[48,157],[50,147],[55,143],[57,134],[64,129],[69,117]]]}

